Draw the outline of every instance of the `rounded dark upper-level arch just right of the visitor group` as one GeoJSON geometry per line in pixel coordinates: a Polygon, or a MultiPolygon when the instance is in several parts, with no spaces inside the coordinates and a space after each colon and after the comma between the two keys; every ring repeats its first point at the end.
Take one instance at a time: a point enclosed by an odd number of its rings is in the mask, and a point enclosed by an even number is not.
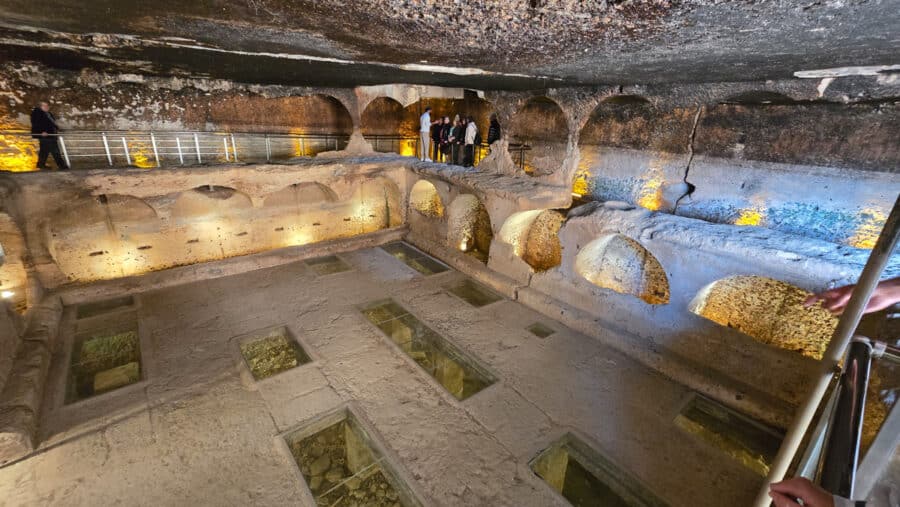
{"type": "Polygon", "coordinates": [[[516,111],[506,129],[507,150],[514,161],[524,157],[525,172],[553,174],[566,158],[569,125],[562,107],[546,96],[532,97],[516,111]],[[520,152],[519,146],[527,146],[520,152]]]}

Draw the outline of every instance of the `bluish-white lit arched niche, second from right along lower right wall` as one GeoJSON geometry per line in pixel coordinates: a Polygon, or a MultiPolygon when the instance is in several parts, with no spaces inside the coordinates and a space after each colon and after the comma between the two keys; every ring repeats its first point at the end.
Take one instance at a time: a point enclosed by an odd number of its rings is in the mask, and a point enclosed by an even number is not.
{"type": "Polygon", "coordinates": [[[631,294],[647,303],[669,302],[669,280],[643,245],[623,234],[604,234],[575,256],[575,271],[604,289],[631,294]]]}

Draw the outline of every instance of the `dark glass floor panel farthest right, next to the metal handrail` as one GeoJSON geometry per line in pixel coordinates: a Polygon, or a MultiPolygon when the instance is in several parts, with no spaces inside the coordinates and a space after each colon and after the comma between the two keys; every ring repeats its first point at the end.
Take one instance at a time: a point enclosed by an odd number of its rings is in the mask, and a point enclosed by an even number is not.
{"type": "Polygon", "coordinates": [[[698,395],[675,417],[675,425],[763,477],[768,475],[784,438],[777,430],[698,395]]]}

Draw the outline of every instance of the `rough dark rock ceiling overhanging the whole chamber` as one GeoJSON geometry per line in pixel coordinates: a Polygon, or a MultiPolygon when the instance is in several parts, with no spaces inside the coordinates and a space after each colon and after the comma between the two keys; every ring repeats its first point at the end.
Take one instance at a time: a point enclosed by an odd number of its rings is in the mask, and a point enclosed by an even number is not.
{"type": "Polygon", "coordinates": [[[900,0],[0,0],[0,54],[293,85],[745,81],[897,64],[900,0]]]}

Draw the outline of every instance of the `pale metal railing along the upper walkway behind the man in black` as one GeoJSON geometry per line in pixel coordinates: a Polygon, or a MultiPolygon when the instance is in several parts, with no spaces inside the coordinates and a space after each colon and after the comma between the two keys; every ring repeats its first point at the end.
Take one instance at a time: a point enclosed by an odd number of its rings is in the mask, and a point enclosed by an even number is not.
{"type": "MultiPolygon", "coordinates": [[[[315,156],[347,147],[349,134],[269,133],[209,131],[93,131],[71,130],[54,135],[69,167],[163,167],[172,165],[218,164],[235,162],[275,162],[296,157],[315,156]]],[[[367,135],[377,152],[417,156],[418,137],[367,135]]],[[[23,130],[0,131],[0,139],[14,144],[23,157],[34,160],[37,141],[23,130]],[[12,140],[12,141],[10,141],[12,140]],[[31,151],[34,150],[34,153],[31,151]],[[28,153],[24,153],[28,152],[28,153]]],[[[510,149],[520,167],[525,164],[527,145],[510,149]]],[[[476,147],[475,163],[490,147],[476,147]]],[[[17,160],[21,166],[22,160],[17,160]]],[[[0,161],[2,163],[2,161],[0,161]]],[[[0,170],[7,169],[0,167],[0,170]]],[[[21,169],[20,169],[21,170],[21,169]]]]}

